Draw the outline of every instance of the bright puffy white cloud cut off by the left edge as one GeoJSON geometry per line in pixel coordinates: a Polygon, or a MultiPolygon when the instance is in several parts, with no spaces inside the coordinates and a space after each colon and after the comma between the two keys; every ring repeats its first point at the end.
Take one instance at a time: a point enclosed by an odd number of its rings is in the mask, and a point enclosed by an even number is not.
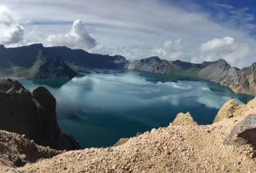
{"type": "Polygon", "coordinates": [[[24,28],[13,11],[0,5],[0,44],[9,45],[23,40],[24,28]]]}

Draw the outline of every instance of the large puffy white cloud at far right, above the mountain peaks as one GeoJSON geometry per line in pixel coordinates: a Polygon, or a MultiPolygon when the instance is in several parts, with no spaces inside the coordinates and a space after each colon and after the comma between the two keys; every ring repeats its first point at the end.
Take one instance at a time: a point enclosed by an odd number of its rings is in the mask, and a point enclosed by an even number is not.
{"type": "Polygon", "coordinates": [[[252,58],[255,53],[254,46],[248,43],[235,42],[234,38],[226,36],[201,44],[198,55],[194,55],[193,61],[225,59],[231,65],[241,68],[249,65],[245,60],[252,58]]]}

